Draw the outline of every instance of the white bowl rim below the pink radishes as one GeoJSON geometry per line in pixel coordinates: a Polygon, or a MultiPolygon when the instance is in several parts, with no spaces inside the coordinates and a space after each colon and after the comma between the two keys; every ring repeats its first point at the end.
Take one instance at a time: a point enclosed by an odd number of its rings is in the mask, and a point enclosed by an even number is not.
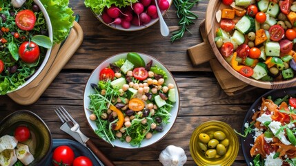
{"type": "MultiPolygon", "coordinates": [[[[152,0],[154,1],[154,0],[152,0]]],[[[168,3],[170,3],[170,6],[172,5],[172,0],[168,0],[168,3]]],[[[168,10],[170,9],[170,7],[168,8],[168,10]]],[[[168,11],[161,11],[162,15],[165,15],[166,12],[168,11]]],[[[97,17],[97,19],[99,19],[99,21],[101,21],[103,24],[105,24],[106,26],[110,27],[110,28],[113,28],[113,29],[117,29],[117,30],[123,30],[123,31],[137,31],[137,30],[143,30],[145,28],[148,28],[149,26],[152,26],[154,25],[158,20],[159,18],[157,19],[151,19],[151,21],[148,23],[148,24],[145,24],[145,25],[141,25],[141,26],[134,26],[134,25],[130,25],[130,28],[126,29],[126,28],[122,28],[121,25],[115,25],[115,24],[106,24],[103,19],[101,18],[101,15],[95,13],[92,11],[92,13],[95,15],[95,17],[97,17]]]]}

